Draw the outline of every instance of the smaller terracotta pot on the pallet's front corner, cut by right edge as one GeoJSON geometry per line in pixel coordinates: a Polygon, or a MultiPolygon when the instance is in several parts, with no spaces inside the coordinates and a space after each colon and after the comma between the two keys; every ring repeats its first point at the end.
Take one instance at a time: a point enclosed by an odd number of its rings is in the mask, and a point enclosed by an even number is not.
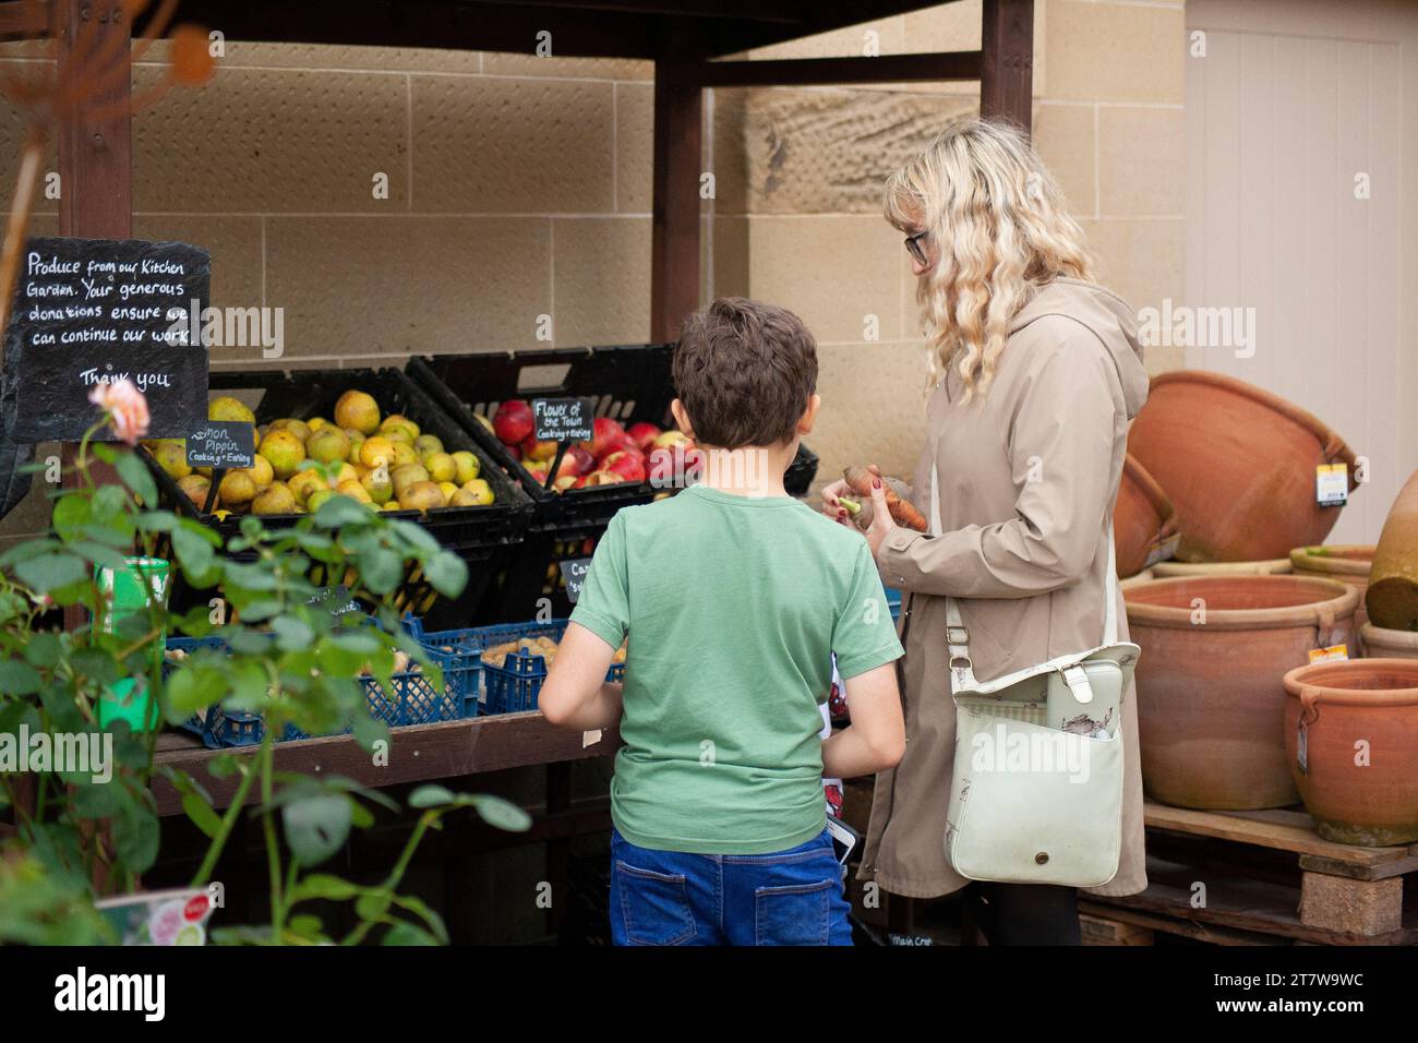
{"type": "Polygon", "coordinates": [[[1316,663],[1288,673],[1285,691],[1286,758],[1319,834],[1366,846],[1418,840],[1418,661],[1316,663]]]}

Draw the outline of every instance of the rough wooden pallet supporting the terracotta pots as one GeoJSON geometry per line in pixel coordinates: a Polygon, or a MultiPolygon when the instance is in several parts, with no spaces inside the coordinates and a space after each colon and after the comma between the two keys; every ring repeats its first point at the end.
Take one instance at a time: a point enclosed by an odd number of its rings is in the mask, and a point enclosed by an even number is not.
{"type": "Polygon", "coordinates": [[[1299,809],[1197,812],[1149,802],[1146,822],[1147,890],[1088,895],[1086,915],[1222,945],[1418,944],[1418,883],[1407,915],[1404,908],[1418,844],[1337,844],[1299,809]]]}

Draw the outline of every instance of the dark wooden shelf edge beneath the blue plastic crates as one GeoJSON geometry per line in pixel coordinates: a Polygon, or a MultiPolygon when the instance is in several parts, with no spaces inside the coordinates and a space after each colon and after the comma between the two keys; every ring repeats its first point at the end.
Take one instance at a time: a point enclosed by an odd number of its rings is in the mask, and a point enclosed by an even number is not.
{"type": "MultiPolygon", "coordinates": [[[[364,786],[381,788],[457,779],[508,768],[587,761],[610,756],[618,748],[620,732],[615,728],[601,731],[597,738],[596,732],[554,728],[540,712],[532,711],[394,728],[387,763],[374,763],[373,756],[352,735],[279,742],[275,746],[275,768],[316,776],[340,775],[364,786]]],[[[254,756],[255,751],[255,746],[214,751],[194,739],[169,734],[159,742],[153,765],[187,772],[207,790],[217,807],[225,807],[231,803],[237,779],[217,779],[207,772],[207,765],[218,754],[254,756]]],[[[182,800],[166,779],[153,778],[153,796],[159,815],[182,815],[182,800]]],[[[254,799],[252,793],[248,802],[254,799]]]]}

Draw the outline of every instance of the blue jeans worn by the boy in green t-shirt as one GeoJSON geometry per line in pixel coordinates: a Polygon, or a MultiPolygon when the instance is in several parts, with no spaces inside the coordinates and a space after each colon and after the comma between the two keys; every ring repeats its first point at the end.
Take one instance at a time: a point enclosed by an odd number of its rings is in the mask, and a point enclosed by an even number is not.
{"type": "Polygon", "coordinates": [[[773,854],[685,854],[611,833],[617,945],[851,945],[842,867],[824,829],[773,854]]]}

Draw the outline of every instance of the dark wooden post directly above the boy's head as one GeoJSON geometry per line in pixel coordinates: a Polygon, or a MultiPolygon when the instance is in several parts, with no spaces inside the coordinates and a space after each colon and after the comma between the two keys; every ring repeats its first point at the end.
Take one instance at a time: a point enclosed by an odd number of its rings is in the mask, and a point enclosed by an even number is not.
{"type": "MultiPolygon", "coordinates": [[[[671,48],[678,53],[678,48],[671,48]]],[[[699,307],[702,89],[672,58],[655,60],[655,172],[649,336],[675,341],[699,307]]]]}

